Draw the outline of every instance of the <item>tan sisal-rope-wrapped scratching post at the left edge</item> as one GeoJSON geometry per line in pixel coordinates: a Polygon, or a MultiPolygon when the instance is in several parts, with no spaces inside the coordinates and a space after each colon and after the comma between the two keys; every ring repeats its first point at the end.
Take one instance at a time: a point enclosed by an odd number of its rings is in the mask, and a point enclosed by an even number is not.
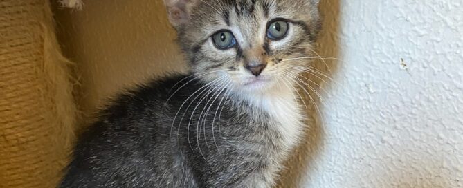
{"type": "Polygon", "coordinates": [[[0,0],[1,188],[59,182],[74,138],[69,65],[48,0],[0,0]]]}

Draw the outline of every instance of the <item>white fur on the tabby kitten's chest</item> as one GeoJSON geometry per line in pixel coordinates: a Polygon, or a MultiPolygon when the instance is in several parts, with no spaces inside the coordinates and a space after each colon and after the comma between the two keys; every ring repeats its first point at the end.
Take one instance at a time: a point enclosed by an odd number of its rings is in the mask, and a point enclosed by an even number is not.
{"type": "Polygon", "coordinates": [[[267,160],[271,161],[273,165],[260,173],[249,176],[248,182],[245,182],[247,186],[244,187],[271,187],[274,185],[275,173],[281,169],[282,162],[287,158],[289,151],[296,147],[302,135],[304,115],[302,115],[302,110],[296,101],[296,95],[293,95],[292,92],[291,90],[275,90],[246,95],[251,105],[269,114],[271,120],[266,120],[266,122],[270,123],[270,129],[280,135],[278,137],[280,139],[272,139],[271,142],[278,144],[282,150],[267,156],[267,160]]]}

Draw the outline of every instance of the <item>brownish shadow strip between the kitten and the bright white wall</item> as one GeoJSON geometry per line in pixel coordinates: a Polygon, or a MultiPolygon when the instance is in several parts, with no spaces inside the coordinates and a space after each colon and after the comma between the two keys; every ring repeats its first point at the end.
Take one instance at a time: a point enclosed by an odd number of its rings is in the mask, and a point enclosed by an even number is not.
{"type": "MultiPolygon", "coordinates": [[[[304,180],[311,173],[311,164],[316,161],[318,153],[323,148],[323,122],[320,120],[320,109],[323,104],[323,99],[315,92],[318,92],[321,97],[325,93],[325,88],[330,84],[330,79],[336,75],[338,70],[339,56],[339,15],[340,15],[339,0],[322,0],[320,1],[320,14],[323,17],[323,30],[320,32],[317,41],[317,53],[314,55],[312,62],[314,71],[304,75],[310,81],[307,82],[316,91],[309,91],[310,96],[305,95],[305,101],[308,106],[307,113],[309,120],[307,123],[307,133],[305,142],[302,142],[296,150],[293,157],[287,161],[287,168],[281,173],[281,180],[278,187],[300,187],[304,180]],[[317,73],[320,72],[320,73],[317,73]],[[314,101],[314,102],[313,102],[314,101]],[[315,105],[309,105],[315,104],[315,105]]],[[[305,78],[304,78],[305,79],[305,78]]],[[[305,93],[304,89],[300,94],[305,93]]]]}

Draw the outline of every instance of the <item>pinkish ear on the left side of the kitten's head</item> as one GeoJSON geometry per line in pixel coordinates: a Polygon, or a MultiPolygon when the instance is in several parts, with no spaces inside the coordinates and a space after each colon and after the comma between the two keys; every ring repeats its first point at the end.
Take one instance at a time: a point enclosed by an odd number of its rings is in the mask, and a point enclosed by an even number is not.
{"type": "Polygon", "coordinates": [[[188,23],[192,8],[199,0],[164,0],[170,23],[175,28],[188,23]]]}

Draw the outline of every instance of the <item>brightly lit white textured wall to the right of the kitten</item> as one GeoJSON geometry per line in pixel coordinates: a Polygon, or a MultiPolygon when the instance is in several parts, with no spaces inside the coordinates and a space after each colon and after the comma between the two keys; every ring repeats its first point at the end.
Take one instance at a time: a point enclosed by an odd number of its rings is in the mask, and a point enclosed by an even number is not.
{"type": "Polygon", "coordinates": [[[305,187],[463,187],[463,1],[339,1],[341,61],[305,187]]]}

